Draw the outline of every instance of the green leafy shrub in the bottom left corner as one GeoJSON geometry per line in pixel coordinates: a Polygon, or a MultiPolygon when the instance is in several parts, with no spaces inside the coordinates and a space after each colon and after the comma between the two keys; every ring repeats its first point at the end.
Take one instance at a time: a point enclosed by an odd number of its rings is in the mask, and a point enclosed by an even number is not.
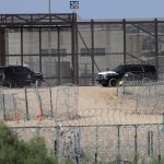
{"type": "Polygon", "coordinates": [[[33,138],[28,142],[0,124],[0,163],[2,164],[58,164],[54,154],[48,154],[45,140],[33,138]]]}

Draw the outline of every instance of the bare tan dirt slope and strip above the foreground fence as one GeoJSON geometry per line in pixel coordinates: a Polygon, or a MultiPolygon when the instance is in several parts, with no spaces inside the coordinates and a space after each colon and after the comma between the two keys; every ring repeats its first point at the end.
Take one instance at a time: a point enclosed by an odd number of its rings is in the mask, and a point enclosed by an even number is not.
{"type": "MultiPolygon", "coordinates": [[[[74,110],[65,112],[67,119],[56,119],[38,117],[33,120],[7,121],[9,126],[56,126],[57,122],[71,126],[90,126],[90,125],[129,125],[129,124],[161,124],[162,116],[154,114],[136,114],[137,99],[132,96],[125,98],[118,96],[117,87],[102,86],[77,86],[74,110]]],[[[59,95],[60,96],[60,95],[59,95]]],[[[68,95],[69,99],[71,96],[68,95]]],[[[58,97],[59,99],[62,97],[58,97]]],[[[52,99],[56,102],[56,99],[52,99]]],[[[71,106],[74,102],[69,102],[71,106]]],[[[68,106],[69,106],[68,105],[68,106]]],[[[72,107],[72,106],[71,106],[72,107]]]]}

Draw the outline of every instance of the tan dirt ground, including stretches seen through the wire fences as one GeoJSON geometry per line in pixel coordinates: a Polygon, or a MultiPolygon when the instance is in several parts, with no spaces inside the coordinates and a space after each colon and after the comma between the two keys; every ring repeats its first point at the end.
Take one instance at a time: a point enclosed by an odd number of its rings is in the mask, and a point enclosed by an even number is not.
{"type": "MultiPolygon", "coordinates": [[[[28,103],[31,103],[30,109],[33,108],[30,113],[36,112],[34,119],[24,120],[20,118],[19,122],[14,120],[5,122],[13,127],[24,140],[34,136],[43,136],[50,149],[54,149],[54,140],[57,138],[58,128],[54,127],[61,124],[63,130],[60,138],[61,152],[69,152],[66,150],[66,145],[70,145],[70,140],[74,140],[74,134],[80,132],[81,147],[85,152],[90,152],[89,156],[94,159],[93,152],[98,147],[98,156],[106,160],[109,157],[112,160],[118,152],[118,125],[122,125],[120,127],[120,152],[122,159],[126,159],[126,155],[131,155],[134,150],[133,125],[141,124],[138,127],[138,142],[139,145],[144,147],[138,151],[142,154],[143,148],[147,149],[148,147],[148,130],[154,132],[154,141],[157,141],[157,128],[156,126],[153,127],[153,124],[162,124],[163,120],[162,115],[136,113],[137,99],[134,95],[138,90],[132,87],[132,90],[128,90],[128,96],[124,96],[122,90],[117,90],[117,87],[75,86],[75,90],[74,86],[54,87],[51,89],[54,117],[43,116],[40,122],[36,98],[31,90],[28,91],[28,103]]],[[[22,91],[12,90],[12,92],[17,93],[17,98],[23,98],[22,91]]],[[[47,97],[48,102],[43,102],[44,109],[46,109],[49,107],[47,89],[42,89],[39,93],[43,99],[47,97]]],[[[21,105],[17,106],[19,109],[23,108],[21,105]]],[[[163,142],[163,139],[161,141],[163,142]]],[[[155,148],[157,148],[157,143],[154,143],[155,148]]],[[[148,152],[145,149],[144,152],[148,152]]]]}

